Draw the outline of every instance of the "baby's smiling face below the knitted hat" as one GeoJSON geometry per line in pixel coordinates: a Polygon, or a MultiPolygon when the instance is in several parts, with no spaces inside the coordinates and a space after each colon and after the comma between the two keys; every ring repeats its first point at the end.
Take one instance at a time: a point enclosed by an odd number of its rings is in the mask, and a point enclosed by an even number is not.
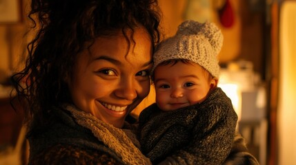
{"type": "Polygon", "coordinates": [[[177,62],[155,68],[156,102],[163,111],[197,104],[206,99],[210,89],[217,87],[217,79],[197,63],[177,62]]]}

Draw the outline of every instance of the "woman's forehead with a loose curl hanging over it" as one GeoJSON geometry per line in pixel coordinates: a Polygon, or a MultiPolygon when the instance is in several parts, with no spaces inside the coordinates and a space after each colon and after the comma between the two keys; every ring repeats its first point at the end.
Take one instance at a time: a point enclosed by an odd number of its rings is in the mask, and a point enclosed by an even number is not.
{"type": "Polygon", "coordinates": [[[128,61],[132,65],[152,65],[152,41],[146,30],[135,29],[127,35],[118,32],[117,35],[99,36],[88,50],[81,52],[79,61],[90,65],[98,59],[111,61],[128,61]]]}

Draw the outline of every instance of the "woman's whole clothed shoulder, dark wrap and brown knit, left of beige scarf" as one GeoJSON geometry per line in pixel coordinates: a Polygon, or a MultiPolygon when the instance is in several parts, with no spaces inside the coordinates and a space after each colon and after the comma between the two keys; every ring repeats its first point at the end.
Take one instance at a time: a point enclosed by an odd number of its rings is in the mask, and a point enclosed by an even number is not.
{"type": "Polygon", "coordinates": [[[121,159],[89,129],[59,110],[50,126],[28,135],[29,164],[121,164],[121,159]]]}

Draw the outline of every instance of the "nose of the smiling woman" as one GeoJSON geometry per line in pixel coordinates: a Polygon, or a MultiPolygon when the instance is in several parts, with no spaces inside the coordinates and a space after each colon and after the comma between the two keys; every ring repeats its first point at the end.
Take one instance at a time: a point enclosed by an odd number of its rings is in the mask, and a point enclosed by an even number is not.
{"type": "Polygon", "coordinates": [[[126,100],[137,98],[137,85],[133,80],[121,80],[119,88],[115,90],[115,95],[126,100]]]}

